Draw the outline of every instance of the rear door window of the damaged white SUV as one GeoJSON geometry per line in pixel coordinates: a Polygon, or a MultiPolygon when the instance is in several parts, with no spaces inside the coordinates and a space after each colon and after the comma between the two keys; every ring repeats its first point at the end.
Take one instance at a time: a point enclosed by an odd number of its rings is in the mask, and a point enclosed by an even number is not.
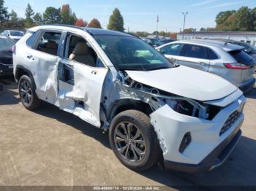
{"type": "Polygon", "coordinates": [[[61,39],[61,32],[46,31],[39,39],[37,50],[48,53],[50,55],[57,55],[59,40],[61,39]]]}

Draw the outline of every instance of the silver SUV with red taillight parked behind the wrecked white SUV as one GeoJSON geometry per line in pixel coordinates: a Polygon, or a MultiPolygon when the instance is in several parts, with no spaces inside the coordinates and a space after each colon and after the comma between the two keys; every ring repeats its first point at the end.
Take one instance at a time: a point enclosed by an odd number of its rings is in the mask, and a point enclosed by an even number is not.
{"type": "Polygon", "coordinates": [[[187,40],[157,47],[173,62],[217,74],[244,92],[255,84],[256,61],[244,47],[214,40],[187,40]]]}

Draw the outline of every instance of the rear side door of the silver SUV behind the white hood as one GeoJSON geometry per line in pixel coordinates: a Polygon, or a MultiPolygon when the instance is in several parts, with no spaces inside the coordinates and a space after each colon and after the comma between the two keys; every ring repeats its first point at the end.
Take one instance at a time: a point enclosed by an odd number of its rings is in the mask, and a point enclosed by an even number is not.
{"type": "Polygon", "coordinates": [[[200,69],[202,71],[208,71],[210,60],[208,59],[206,47],[194,44],[184,44],[181,56],[178,64],[189,66],[194,69],[200,69]]]}

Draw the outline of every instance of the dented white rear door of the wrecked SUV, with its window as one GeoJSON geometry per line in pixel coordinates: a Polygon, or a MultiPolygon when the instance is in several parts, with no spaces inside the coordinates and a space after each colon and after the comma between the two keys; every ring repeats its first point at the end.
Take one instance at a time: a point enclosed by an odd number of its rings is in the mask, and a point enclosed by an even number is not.
{"type": "Polygon", "coordinates": [[[37,96],[50,104],[59,106],[57,98],[57,63],[59,62],[59,42],[61,31],[42,30],[31,36],[31,47],[25,52],[26,63],[37,86],[37,96]]]}

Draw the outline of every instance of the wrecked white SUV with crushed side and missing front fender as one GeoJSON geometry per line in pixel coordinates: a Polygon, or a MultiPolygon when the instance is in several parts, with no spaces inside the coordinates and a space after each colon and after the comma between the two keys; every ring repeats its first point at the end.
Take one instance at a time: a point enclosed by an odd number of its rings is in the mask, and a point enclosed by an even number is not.
{"type": "Polygon", "coordinates": [[[129,34],[37,26],[13,47],[26,109],[42,101],[109,130],[116,157],[145,170],[221,165],[241,136],[241,90],[214,74],[177,66],[129,34]]]}

